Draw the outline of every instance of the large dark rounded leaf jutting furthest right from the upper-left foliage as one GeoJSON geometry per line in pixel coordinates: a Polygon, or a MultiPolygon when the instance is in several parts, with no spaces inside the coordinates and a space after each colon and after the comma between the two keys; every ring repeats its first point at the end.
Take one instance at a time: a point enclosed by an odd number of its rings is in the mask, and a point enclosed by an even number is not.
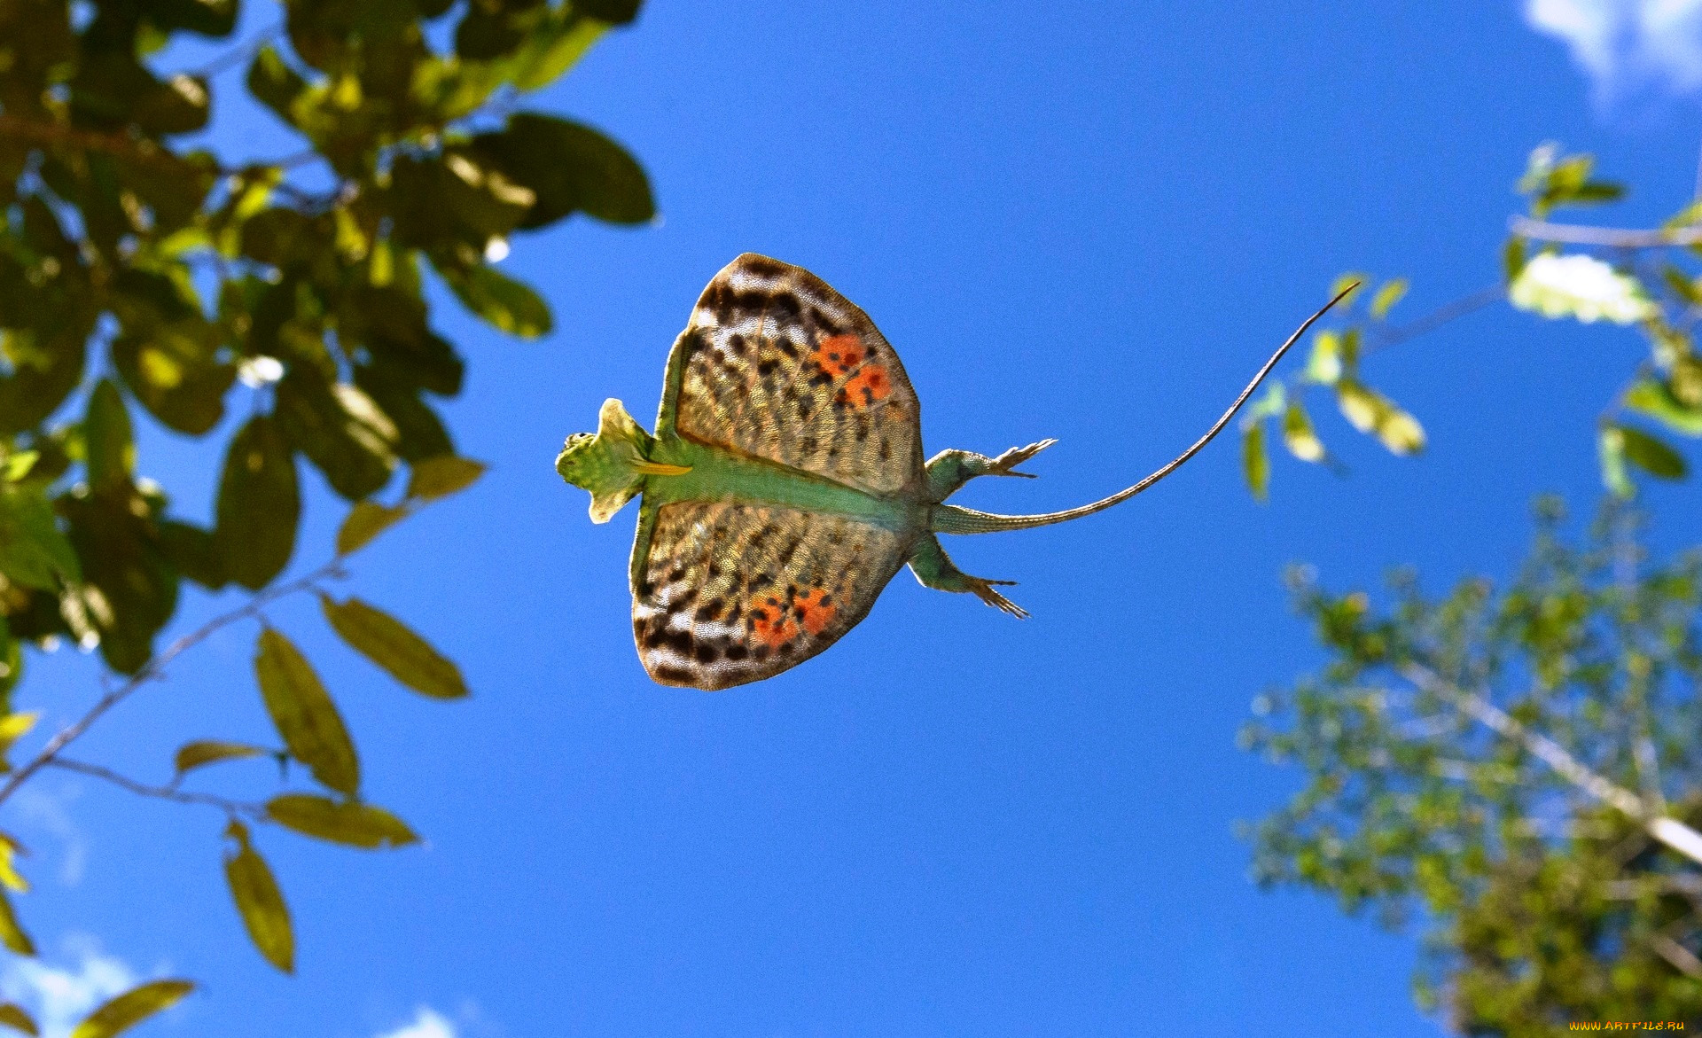
{"type": "Polygon", "coordinates": [[[475,136],[473,150],[536,194],[521,230],[555,223],[575,211],[608,223],[655,218],[643,167],[589,126],[517,112],[500,133],[475,136]]]}

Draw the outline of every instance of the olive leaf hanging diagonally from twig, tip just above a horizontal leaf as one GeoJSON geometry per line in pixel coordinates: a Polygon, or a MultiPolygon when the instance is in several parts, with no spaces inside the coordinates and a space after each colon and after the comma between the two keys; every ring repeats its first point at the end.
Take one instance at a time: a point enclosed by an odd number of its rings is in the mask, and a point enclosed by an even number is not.
{"type": "Polygon", "coordinates": [[[279,631],[260,631],[259,655],[254,660],[260,681],[260,696],[272,723],[289,749],[313,778],[347,796],[361,786],[361,762],[354,756],[349,730],[320,684],[306,657],[279,631]]]}

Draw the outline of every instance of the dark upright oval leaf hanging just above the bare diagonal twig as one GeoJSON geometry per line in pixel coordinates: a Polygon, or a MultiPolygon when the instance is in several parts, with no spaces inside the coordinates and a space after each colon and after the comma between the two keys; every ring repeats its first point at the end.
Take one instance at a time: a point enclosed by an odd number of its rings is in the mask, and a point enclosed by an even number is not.
{"type": "Polygon", "coordinates": [[[250,590],[271,584],[296,550],[301,521],[296,463],[272,419],[255,415],[231,437],[216,510],[225,575],[250,590]]]}

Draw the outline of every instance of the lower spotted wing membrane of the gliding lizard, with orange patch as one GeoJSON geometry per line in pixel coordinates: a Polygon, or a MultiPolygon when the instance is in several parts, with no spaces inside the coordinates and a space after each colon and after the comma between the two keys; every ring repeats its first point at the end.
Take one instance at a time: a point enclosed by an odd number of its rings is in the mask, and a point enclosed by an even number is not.
{"type": "Polygon", "coordinates": [[[757,504],[676,502],[633,545],[633,638],[662,684],[725,689],[856,626],[909,553],[890,529],[757,504]]]}

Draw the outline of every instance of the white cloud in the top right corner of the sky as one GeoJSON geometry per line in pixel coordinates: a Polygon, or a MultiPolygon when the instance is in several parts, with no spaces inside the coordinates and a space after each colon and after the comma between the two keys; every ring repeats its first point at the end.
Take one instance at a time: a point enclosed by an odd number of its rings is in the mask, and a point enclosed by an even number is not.
{"type": "Polygon", "coordinates": [[[1603,107],[1702,94],[1702,0],[1525,0],[1525,20],[1571,48],[1603,107]]]}

